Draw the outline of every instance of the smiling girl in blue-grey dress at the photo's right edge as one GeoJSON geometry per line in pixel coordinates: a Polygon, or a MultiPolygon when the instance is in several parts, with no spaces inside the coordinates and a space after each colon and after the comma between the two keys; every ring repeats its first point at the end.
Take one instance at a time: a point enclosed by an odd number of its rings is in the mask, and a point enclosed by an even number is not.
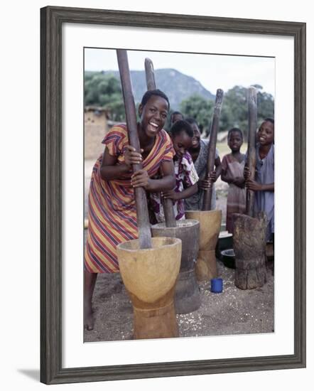
{"type": "Polygon", "coordinates": [[[274,182],[275,182],[275,155],[274,155],[274,128],[272,118],[264,119],[257,132],[256,171],[255,179],[250,178],[249,168],[244,168],[245,183],[249,190],[255,192],[255,211],[264,211],[267,215],[266,240],[274,242],[274,182]]]}

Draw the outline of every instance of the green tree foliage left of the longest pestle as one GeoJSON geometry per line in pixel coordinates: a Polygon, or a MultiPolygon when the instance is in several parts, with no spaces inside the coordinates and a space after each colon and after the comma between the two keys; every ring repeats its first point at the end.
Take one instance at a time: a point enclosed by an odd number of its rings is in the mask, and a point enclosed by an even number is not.
{"type": "Polygon", "coordinates": [[[125,121],[121,85],[114,75],[102,72],[85,73],[85,105],[108,109],[114,121],[125,121]]]}

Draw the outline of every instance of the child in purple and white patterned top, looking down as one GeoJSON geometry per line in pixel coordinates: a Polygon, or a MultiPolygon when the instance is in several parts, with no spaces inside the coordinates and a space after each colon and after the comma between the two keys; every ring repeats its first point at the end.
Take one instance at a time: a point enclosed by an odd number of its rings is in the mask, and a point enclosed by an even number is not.
{"type": "Polygon", "coordinates": [[[175,220],[185,219],[184,199],[197,192],[198,176],[188,153],[192,144],[193,129],[188,122],[179,120],[170,129],[170,137],[175,149],[173,164],[175,166],[175,188],[162,193],[151,193],[151,208],[158,223],[165,221],[161,198],[173,200],[175,220]]]}

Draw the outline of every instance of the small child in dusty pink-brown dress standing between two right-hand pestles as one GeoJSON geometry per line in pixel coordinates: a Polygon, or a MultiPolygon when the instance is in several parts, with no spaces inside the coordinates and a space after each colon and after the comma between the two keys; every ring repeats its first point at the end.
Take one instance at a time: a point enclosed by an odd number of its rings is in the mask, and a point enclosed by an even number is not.
{"type": "Polygon", "coordinates": [[[233,233],[233,213],[244,213],[246,203],[246,191],[244,182],[245,155],[240,152],[243,144],[242,130],[232,128],[228,132],[228,146],[231,154],[222,158],[222,181],[229,183],[227,197],[226,229],[233,233]]]}

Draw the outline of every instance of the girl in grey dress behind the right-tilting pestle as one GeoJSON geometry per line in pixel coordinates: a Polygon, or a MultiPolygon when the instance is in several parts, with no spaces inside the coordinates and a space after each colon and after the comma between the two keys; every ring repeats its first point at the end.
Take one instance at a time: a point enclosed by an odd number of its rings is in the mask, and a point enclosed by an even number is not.
{"type": "Polygon", "coordinates": [[[194,136],[192,140],[192,146],[190,146],[190,149],[188,151],[192,156],[195,170],[200,178],[198,182],[197,193],[185,199],[185,210],[202,210],[203,193],[204,190],[206,190],[210,186],[212,186],[212,209],[215,209],[216,191],[214,183],[217,181],[217,178],[219,178],[220,173],[222,171],[219,152],[216,149],[215,171],[209,173],[208,177],[205,178],[208,157],[208,144],[210,143],[210,141],[200,138],[200,129],[194,118],[187,118],[185,119],[185,121],[188,122],[193,129],[194,136]]]}

